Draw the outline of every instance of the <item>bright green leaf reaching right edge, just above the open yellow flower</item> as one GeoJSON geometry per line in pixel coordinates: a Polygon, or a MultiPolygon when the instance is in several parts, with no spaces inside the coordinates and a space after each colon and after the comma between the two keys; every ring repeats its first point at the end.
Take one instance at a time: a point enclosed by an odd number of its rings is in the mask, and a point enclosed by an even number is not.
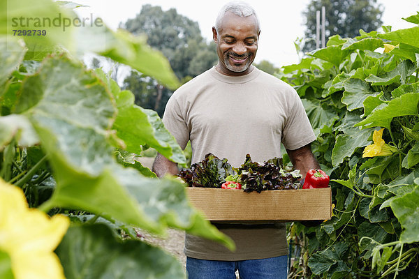
{"type": "Polygon", "coordinates": [[[418,93],[405,93],[390,100],[387,104],[380,105],[366,119],[355,126],[380,126],[383,120],[391,121],[396,116],[418,115],[418,93]]]}

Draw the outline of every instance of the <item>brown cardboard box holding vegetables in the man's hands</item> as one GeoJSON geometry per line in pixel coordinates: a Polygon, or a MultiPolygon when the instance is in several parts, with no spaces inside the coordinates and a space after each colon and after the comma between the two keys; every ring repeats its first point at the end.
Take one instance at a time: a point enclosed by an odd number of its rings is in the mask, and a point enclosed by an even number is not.
{"type": "Polygon", "coordinates": [[[191,204],[207,220],[325,220],[332,216],[332,190],[243,190],[188,187],[191,204]]]}

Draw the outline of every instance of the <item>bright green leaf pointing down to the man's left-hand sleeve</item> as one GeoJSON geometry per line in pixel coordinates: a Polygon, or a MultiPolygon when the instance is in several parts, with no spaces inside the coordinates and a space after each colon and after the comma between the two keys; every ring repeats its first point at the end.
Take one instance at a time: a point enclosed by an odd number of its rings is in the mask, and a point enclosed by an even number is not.
{"type": "Polygon", "coordinates": [[[186,162],[175,137],[166,130],[156,112],[135,105],[131,91],[121,91],[115,98],[119,113],[112,128],[124,140],[127,151],[139,154],[141,145],[147,144],[175,163],[186,162]]]}

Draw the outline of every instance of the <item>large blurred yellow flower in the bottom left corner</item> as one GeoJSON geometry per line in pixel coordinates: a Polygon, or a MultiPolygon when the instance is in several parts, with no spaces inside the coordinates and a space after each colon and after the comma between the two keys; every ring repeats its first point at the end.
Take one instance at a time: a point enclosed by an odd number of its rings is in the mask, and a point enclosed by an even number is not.
{"type": "Polygon", "coordinates": [[[15,279],[65,278],[54,249],[69,225],[66,216],[29,209],[22,190],[0,179],[0,250],[10,257],[15,279]]]}

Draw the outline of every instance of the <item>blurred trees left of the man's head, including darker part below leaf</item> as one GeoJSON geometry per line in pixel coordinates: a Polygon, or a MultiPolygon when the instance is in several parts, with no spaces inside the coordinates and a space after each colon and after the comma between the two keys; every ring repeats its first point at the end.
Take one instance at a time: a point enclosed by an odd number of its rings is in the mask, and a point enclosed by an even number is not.
{"type": "MultiPolygon", "coordinates": [[[[179,15],[174,8],[163,11],[159,6],[144,5],[135,18],[120,27],[147,36],[147,44],[163,52],[179,80],[190,80],[218,61],[214,44],[205,42],[198,22],[179,15]]],[[[172,93],[136,71],[126,77],[123,87],[135,94],[137,105],[156,110],[160,116],[172,93]]]]}

